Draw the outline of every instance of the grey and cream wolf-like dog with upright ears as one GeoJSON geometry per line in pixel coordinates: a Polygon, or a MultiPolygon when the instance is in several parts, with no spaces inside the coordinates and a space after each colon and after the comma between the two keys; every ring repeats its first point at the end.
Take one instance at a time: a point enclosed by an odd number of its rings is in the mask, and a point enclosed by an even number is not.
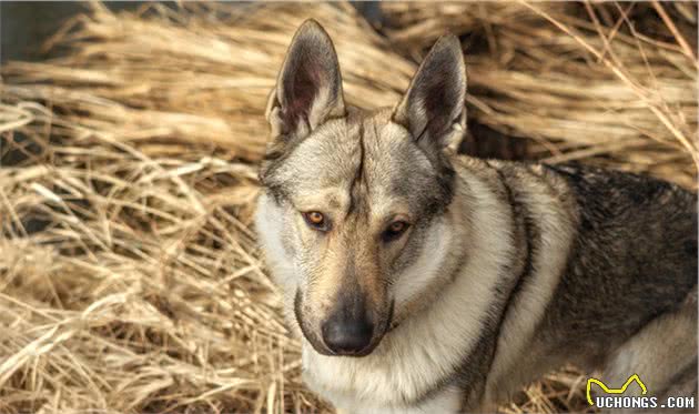
{"type": "Polygon", "coordinates": [[[364,111],[325,30],[294,36],[255,226],[307,386],[344,412],[484,412],[573,363],[696,394],[697,195],[459,155],[465,97],[455,37],[394,108],[364,111]]]}

